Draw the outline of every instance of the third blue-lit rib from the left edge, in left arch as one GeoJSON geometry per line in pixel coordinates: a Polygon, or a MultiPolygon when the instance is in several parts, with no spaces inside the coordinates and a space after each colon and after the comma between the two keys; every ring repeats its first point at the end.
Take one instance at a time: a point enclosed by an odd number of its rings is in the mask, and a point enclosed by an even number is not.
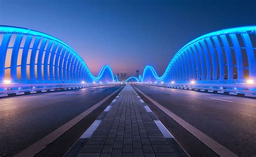
{"type": "Polygon", "coordinates": [[[26,77],[26,63],[28,60],[28,52],[29,52],[29,46],[31,44],[32,36],[26,36],[26,41],[23,47],[23,52],[22,52],[22,63],[21,63],[21,78],[23,80],[27,79],[26,77]]]}

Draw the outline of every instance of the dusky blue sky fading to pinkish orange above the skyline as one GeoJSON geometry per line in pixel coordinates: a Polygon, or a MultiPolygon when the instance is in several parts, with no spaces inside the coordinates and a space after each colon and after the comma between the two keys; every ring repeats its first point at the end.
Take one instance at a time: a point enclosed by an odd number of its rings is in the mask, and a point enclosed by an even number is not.
{"type": "Polygon", "coordinates": [[[75,49],[91,72],[164,73],[174,54],[209,32],[256,25],[256,1],[0,0],[0,25],[52,35],[75,49]]]}

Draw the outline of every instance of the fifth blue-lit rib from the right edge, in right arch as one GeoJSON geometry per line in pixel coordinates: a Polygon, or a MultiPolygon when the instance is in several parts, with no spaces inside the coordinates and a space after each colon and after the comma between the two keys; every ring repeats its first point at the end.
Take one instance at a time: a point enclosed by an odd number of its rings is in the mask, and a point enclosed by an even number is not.
{"type": "Polygon", "coordinates": [[[217,80],[217,76],[218,76],[218,64],[217,64],[217,59],[216,59],[216,55],[215,55],[215,52],[214,52],[214,49],[213,49],[213,45],[212,45],[212,42],[211,42],[211,39],[210,38],[206,38],[206,43],[209,47],[209,50],[211,52],[211,58],[212,58],[212,79],[213,80],[217,80]]]}

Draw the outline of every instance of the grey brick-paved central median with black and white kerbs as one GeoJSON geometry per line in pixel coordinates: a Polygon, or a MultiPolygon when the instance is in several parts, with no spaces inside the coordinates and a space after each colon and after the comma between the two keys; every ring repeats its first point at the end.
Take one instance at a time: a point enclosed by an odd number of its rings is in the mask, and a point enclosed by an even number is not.
{"type": "Polygon", "coordinates": [[[130,85],[124,87],[80,140],[83,146],[78,156],[186,156],[130,85]]]}

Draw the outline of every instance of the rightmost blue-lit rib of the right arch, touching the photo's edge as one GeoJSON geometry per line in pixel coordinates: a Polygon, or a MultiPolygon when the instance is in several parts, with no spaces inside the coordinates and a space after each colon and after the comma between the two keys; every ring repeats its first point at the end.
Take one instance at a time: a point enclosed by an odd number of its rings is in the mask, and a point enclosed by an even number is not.
{"type": "Polygon", "coordinates": [[[256,61],[253,52],[253,47],[251,43],[251,39],[248,34],[241,34],[242,40],[245,44],[245,49],[247,53],[248,65],[249,65],[249,76],[250,78],[256,77],[256,61]]]}

